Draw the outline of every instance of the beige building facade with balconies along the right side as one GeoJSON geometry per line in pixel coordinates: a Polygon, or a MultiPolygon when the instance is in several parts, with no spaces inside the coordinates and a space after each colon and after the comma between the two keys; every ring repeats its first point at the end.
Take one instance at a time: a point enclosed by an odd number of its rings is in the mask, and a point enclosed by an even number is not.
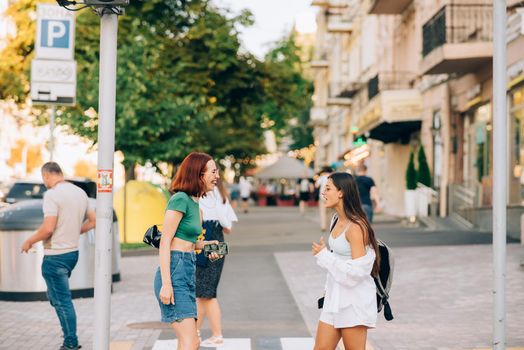
{"type": "MultiPolygon", "coordinates": [[[[436,214],[490,227],[492,2],[312,4],[319,7],[311,111],[317,164],[366,163],[385,200],[384,210],[403,216],[409,154],[424,146],[438,202],[436,214]],[[341,18],[351,28],[343,35],[329,30],[341,18]],[[336,83],[343,88],[334,93],[349,99],[335,109],[329,98],[336,83]],[[357,138],[365,144],[355,143],[357,138]]],[[[522,4],[508,1],[507,191],[508,229],[513,231],[520,230],[516,219],[524,203],[523,18],[522,4]]]]}

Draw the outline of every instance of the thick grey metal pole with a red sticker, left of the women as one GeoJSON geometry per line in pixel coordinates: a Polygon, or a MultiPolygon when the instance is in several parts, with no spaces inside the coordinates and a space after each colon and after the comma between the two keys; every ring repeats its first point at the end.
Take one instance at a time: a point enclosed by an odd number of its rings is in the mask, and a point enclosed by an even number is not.
{"type": "Polygon", "coordinates": [[[113,172],[115,151],[116,47],[118,16],[105,9],[100,19],[100,87],[98,122],[99,187],[96,199],[95,252],[95,321],[93,349],[109,349],[109,320],[111,309],[111,247],[113,222],[113,190],[100,174],[113,172]],[[109,189],[109,190],[108,190],[109,189]],[[107,191],[108,190],[108,191],[107,191]],[[106,192],[107,191],[107,192],[106,192]]]}

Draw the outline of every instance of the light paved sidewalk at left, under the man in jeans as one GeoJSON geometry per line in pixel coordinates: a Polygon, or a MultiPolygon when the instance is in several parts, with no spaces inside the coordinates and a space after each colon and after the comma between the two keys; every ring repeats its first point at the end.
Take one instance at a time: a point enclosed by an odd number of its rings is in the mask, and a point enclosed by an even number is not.
{"type": "MultiPolygon", "coordinates": [[[[157,256],[123,258],[122,281],[113,284],[111,296],[112,349],[141,350],[152,347],[160,329],[130,328],[128,325],[156,322],[159,310],[153,296],[157,256]]],[[[78,337],[83,349],[92,349],[94,299],[75,299],[78,337]]],[[[0,349],[58,349],[62,333],[49,302],[0,301],[0,349]]]]}

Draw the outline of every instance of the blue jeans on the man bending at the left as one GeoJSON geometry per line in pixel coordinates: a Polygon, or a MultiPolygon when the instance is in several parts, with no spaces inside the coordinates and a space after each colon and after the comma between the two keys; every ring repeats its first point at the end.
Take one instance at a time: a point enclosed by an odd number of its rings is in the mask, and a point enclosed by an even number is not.
{"type": "Polygon", "coordinates": [[[78,261],[78,251],[46,255],[42,262],[42,276],[47,285],[47,297],[55,308],[56,315],[64,333],[64,345],[78,346],[76,336],[76,313],[69,290],[69,277],[78,261]]]}

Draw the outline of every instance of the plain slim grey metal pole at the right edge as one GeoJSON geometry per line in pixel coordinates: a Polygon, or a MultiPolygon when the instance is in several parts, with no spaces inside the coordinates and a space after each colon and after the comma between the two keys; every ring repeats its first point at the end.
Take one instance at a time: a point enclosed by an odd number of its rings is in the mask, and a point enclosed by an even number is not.
{"type": "Polygon", "coordinates": [[[493,349],[506,349],[506,1],[493,1],[493,349]]]}

